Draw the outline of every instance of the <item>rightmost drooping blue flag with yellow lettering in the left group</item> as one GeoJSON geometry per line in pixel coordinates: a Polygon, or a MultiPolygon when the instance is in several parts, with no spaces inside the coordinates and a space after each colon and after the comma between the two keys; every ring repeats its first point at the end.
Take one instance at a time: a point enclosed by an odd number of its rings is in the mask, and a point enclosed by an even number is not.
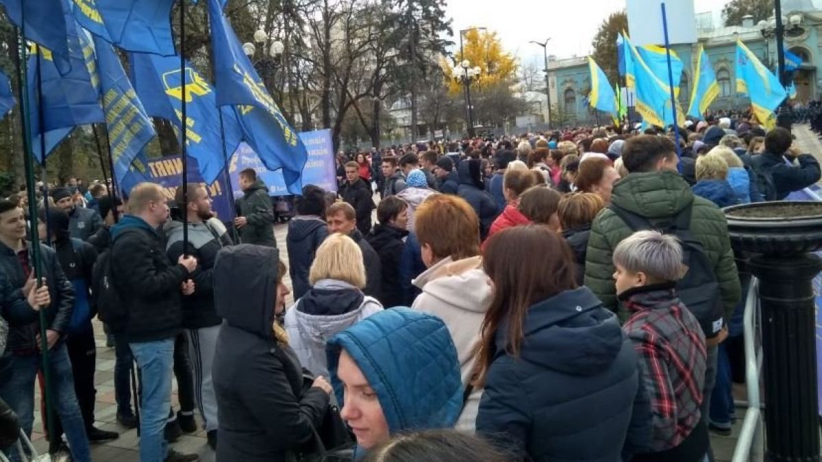
{"type": "Polygon", "coordinates": [[[306,147],[242,52],[237,35],[234,35],[219,3],[219,0],[209,0],[217,104],[243,106],[238,110],[239,118],[253,118],[241,120],[245,140],[267,169],[283,169],[289,192],[299,194],[302,167],[308,158],[306,147]],[[256,132],[248,130],[252,126],[257,127],[256,132]]]}

